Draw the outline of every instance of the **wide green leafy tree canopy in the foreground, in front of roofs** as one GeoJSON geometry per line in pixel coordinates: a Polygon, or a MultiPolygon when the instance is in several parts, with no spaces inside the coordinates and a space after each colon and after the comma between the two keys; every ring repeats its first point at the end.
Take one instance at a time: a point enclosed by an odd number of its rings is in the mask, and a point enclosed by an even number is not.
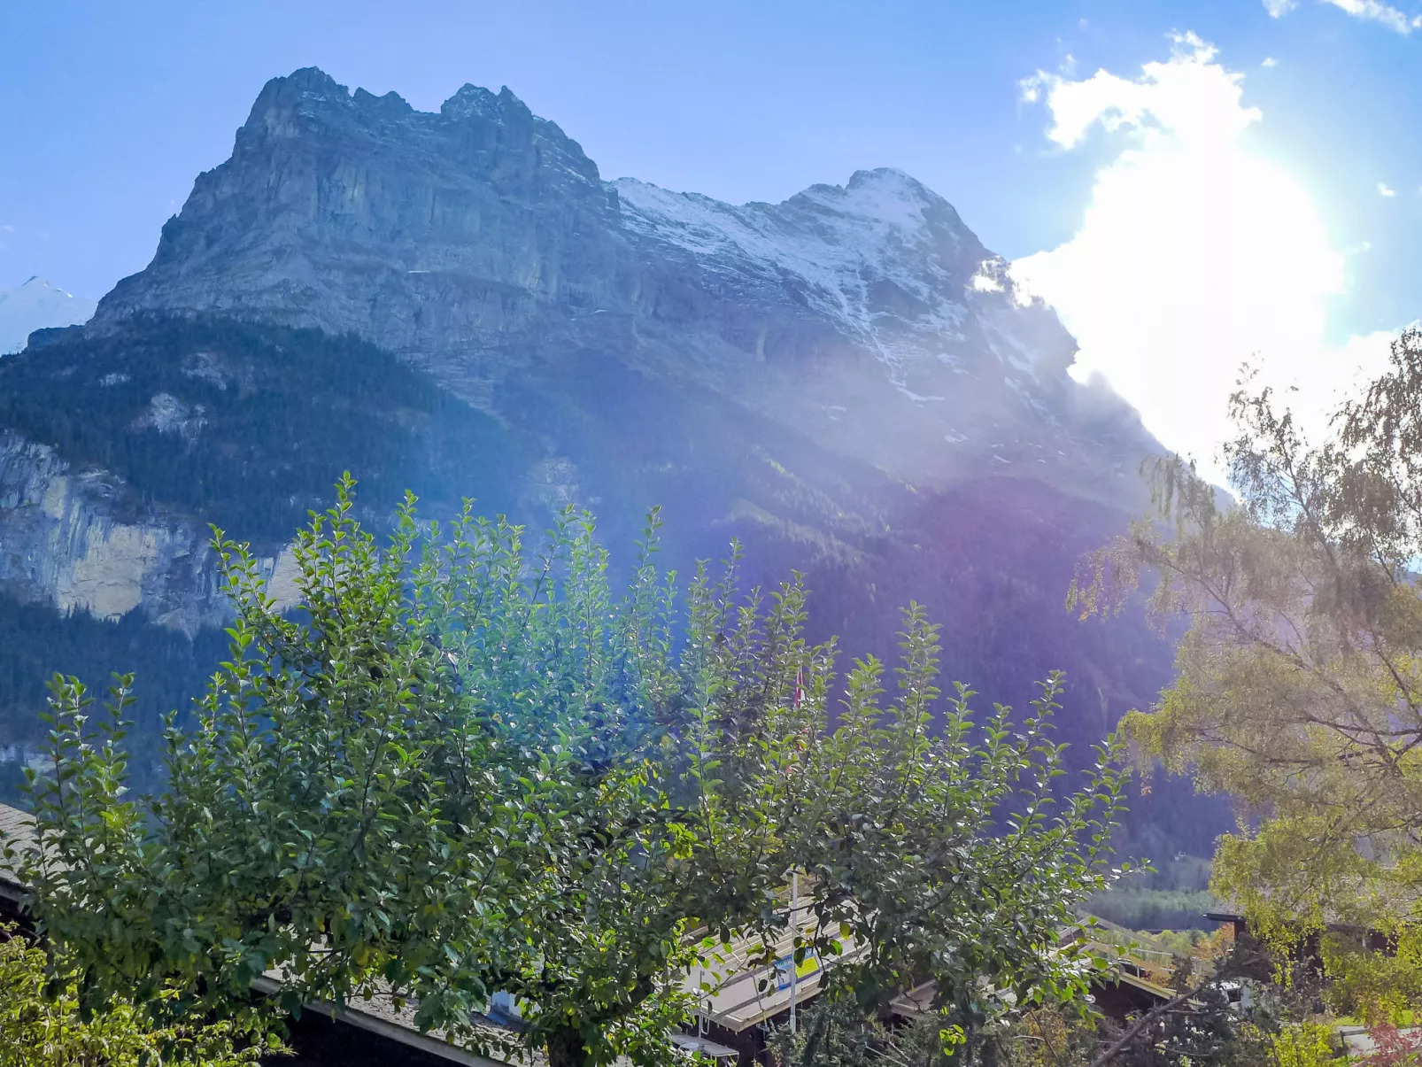
{"type": "Polygon", "coordinates": [[[772,962],[791,872],[818,919],[796,956],[865,946],[828,980],[866,1013],[934,979],[950,1046],[1103,966],[1059,930],[1115,878],[1123,771],[1108,745],[1064,785],[1059,679],[1018,718],[940,701],[910,606],[896,697],[866,657],[836,710],[805,589],[741,592],[734,548],[680,592],[653,514],[614,593],[586,515],[528,551],[407,498],[383,542],[353,492],[296,541],[296,612],[218,535],[230,654],[169,720],[155,792],[125,785],[132,679],[98,716],[55,679],[27,876],[87,1006],[263,1024],[381,993],[498,1051],[479,1013],[502,992],[555,1064],[664,1063],[697,959],[738,933],[772,962]]]}

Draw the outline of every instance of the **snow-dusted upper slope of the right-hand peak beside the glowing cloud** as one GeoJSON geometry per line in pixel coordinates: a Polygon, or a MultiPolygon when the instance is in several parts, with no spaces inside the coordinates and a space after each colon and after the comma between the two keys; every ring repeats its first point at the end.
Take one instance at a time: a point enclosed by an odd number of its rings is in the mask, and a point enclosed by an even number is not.
{"type": "MultiPolygon", "coordinates": [[[[1108,497],[1135,465],[1121,455],[1153,444],[1119,398],[1068,376],[1076,344],[1052,309],[902,171],[781,203],[611,185],[641,256],[695,279],[722,339],[754,337],[768,366],[724,360],[749,383],[738,398],[823,444],[914,481],[987,468],[1108,497]]],[[[683,336],[695,319],[680,316],[683,336]]]]}

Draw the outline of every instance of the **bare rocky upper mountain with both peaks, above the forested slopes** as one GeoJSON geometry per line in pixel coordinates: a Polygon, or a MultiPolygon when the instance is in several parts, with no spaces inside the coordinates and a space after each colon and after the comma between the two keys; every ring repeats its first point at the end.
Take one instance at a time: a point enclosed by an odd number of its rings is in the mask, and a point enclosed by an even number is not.
{"type": "Polygon", "coordinates": [[[506,88],[432,114],[316,70],[273,80],[91,329],[142,312],[353,331],[489,410],[604,353],[930,487],[993,469],[1119,501],[1153,447],[907,175],[742,206],[609,184],[506,88]]]}

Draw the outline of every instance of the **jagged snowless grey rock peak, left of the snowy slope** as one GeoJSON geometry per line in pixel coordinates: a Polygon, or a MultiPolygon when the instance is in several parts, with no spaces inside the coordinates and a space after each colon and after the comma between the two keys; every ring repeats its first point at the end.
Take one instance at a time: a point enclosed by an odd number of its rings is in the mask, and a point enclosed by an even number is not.
{"type": "MultiPolygon", "coordinates": [[[[358,333],[429,360],[516,359],[617,282],[616,196],[512,92],[465,85],[439,114],[274,78],[232,158],[202,174],[148,270],[102,322],[205,310],[358,333]]],[[[468,384],[468,383],[466,383],[468,384]]]]}

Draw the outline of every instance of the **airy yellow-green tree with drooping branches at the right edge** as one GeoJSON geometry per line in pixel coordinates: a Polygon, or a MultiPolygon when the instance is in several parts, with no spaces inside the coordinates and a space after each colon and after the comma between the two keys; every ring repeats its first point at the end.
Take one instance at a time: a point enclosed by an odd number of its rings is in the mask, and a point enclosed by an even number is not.
{"type": "Polygon", "coordinates": [[[1268,390],[1231,401],[1223,501],[1155,468],[1158,511],[1084,566],[1069,606],[1119,610],[1142,575],[1183,617],[1175,683],[1123,731],[1240,805],[1219,892],[1260,929],[1422,919],[1422,333],[1308,441],[1268,390]]]}

